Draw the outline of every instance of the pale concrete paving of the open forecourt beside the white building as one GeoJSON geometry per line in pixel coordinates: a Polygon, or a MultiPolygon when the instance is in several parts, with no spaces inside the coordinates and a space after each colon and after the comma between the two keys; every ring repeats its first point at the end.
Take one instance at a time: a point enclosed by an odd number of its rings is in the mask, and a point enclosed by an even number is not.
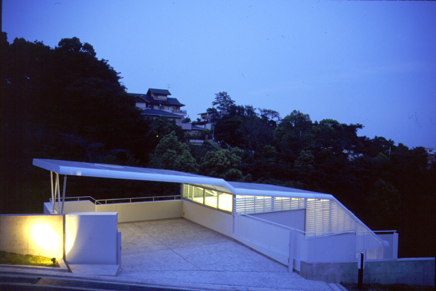
{"type": "Polygon", "coordinates": [[[207,290],[343,290],[288,267],[204,226],[178,218],[118,224],[118,280],[207,290]]]}

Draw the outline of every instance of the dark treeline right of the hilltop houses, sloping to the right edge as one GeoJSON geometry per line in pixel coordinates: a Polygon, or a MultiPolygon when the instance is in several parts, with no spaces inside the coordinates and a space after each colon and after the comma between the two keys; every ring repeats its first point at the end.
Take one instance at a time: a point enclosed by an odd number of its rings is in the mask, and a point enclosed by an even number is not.
{"type": "Polygon", "coordinates": [[[371,229],[398,230],[401,257],[434,256],[436,167],[423,147],[358,136],[360,124],[313,122],[296,110],[280,119],[227,101],[209,112],[215,141],[239,149],[240,181],[333,194],[371,229]]]}

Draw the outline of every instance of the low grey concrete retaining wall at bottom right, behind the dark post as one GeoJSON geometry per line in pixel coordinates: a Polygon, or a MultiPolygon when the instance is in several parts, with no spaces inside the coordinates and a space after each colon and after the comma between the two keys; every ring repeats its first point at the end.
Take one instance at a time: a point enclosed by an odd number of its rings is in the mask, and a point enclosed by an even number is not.
{"type": "MultiPolygon", "coordinates": [[[[347,263],[301,262],[300,275],[328,283],[357,283],[357,261],[347,263]]],[[[435,286],[435,258],[366,261],[363,283],[435,286]]]]}

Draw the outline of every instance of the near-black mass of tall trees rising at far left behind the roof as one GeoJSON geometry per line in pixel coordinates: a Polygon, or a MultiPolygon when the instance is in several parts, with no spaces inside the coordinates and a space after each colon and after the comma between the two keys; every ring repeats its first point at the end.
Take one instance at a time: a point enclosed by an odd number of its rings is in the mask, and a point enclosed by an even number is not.
{"type": "Polygon", "coordinates": [[[119,73],[95,56],[78,38],[51,49],[23,38],[9,44],[1,34],[2,213],[40,211],[43,179],[35,176],[33,158],[145,161],[138,156],[146,146],[145,120],[119,73]],[[22,181],[23,176],[30,179],[22,181]],[[12,193],[35,204],[14,207],[8,200],[12,193]]]}

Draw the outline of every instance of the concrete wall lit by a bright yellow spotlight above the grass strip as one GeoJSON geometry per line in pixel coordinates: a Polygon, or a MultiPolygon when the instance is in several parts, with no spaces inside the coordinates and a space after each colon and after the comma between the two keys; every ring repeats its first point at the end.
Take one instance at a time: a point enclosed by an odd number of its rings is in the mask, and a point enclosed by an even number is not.
{"type": "Polygon", "coordinates": [[[22,255],[63,258],[63,215],[1,215],[0,250],[22,255]]]}

